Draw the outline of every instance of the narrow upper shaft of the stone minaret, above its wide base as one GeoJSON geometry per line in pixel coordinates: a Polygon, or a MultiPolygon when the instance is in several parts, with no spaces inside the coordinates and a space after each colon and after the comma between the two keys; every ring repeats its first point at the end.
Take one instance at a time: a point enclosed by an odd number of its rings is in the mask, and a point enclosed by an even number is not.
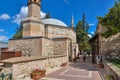
{"type": "Polygon", "coordinates": [[[40,3],[41,0],[28,0],[27,17],[34,17],[36,19],[40,19],[40,3]]]}

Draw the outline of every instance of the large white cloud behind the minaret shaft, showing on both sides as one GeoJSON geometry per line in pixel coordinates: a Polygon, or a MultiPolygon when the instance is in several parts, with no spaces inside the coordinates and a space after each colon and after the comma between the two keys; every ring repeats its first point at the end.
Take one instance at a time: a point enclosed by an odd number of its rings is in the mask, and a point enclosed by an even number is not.
{"type": "MultiPolygon", "coordinates": [[[[27,17],[27,13],[28,13],[28,7],[27,6],[21,7],[19,14],[14,16],[13,22],[20,24],[20,22],[27,17]]],[[[46,15],[46,13],[41,11],[41,18],[44,18],[45,15],[46,15]]]]}

